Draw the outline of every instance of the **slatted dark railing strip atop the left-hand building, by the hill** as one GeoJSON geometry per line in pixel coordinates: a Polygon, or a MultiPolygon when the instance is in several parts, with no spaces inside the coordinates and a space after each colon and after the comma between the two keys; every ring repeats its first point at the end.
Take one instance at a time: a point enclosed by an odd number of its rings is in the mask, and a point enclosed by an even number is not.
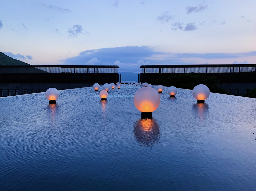
{"type": "Polygon", "coordinates": [[[0,74],[34,73],[118,73],[119,66],[0,66],[0,74]]]}

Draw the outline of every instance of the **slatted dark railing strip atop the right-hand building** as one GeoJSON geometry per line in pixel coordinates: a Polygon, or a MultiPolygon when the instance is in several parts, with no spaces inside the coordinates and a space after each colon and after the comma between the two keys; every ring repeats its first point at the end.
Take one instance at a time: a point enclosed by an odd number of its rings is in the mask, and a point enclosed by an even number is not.
{"type": "Polygon", "coordinates": [[[141,65],[141,73],[237,73],[255,72],[256,64],[141,65]]]}

